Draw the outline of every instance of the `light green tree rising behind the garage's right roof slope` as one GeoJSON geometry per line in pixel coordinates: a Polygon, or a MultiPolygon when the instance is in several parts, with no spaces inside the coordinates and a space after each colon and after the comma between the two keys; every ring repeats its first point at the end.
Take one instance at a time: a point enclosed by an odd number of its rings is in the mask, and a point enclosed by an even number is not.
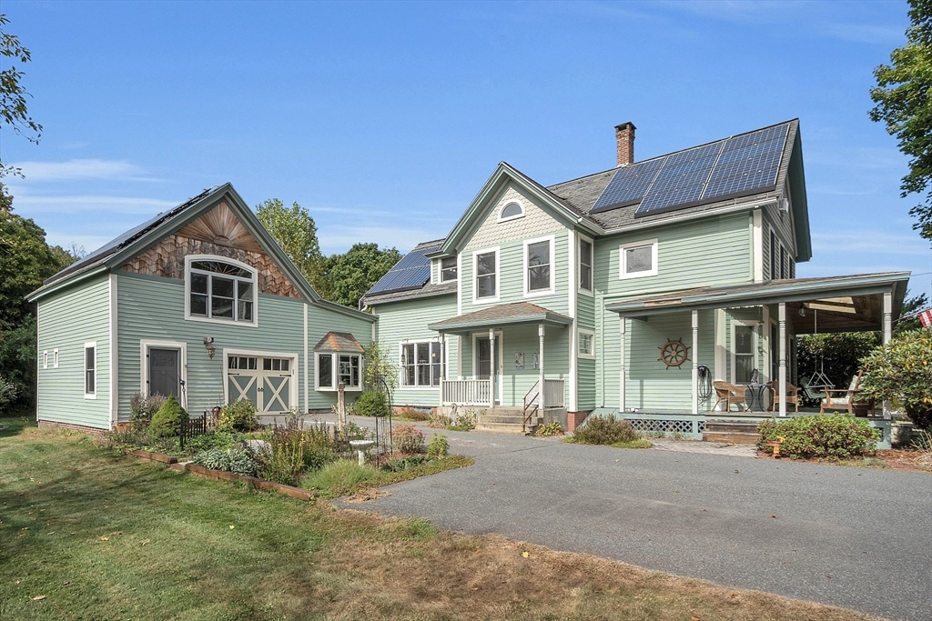
{"type": "Polygon", "coordinates": [[[317,240],[317,224],[308,209],[297,203],[286,209],[278,198],[270,198],[257,205],[259,222],[275,237],[281,250],[295,263],[295,267],[308,279],[310,286],[322,297],[330,290],[325,272],[325,260],[317,240]]]}

